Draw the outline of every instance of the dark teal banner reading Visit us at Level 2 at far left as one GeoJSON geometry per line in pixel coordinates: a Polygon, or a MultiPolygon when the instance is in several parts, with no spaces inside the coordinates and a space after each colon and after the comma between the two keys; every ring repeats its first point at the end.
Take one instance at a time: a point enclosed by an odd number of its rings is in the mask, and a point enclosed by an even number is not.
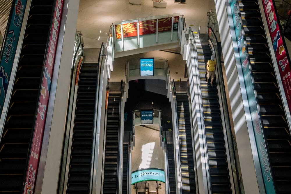
{"type": "Polygon", "coordinates": [[[14,7],[9,15],[10,20],[8,20],[0,59],[0,112],[3,109],[27,1],[13,2],[14,7]]]}

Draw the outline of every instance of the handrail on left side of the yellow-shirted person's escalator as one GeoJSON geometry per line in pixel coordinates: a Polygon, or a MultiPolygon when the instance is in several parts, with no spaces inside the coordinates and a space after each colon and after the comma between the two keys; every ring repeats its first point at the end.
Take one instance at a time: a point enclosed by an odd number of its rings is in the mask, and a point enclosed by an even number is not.
{"type": "MultiPolygon", "coordinates": [[[[192,31],[192,28],[189,27],[189,32],[188,33],[191,33],[192,35],[194,34],[193,31],[192,31]]],[[[190,39],[190,36],[188,38],[188,42],[191,41],[190,39]]],[[[191,44],[191,43],[190,43],[191,44]]],[[[196,44],[196,38],[195,36],[193,35],[193,41],[192,41],[192,44],[194,46],[194,68],[196,69],[197,71],[197,75],[199,75],[199,64],[198,64],[198,57],[197,57],[197,44],[196,44]]],[[[194,77],[193,77],[194,79],[194,77]]],[[[207,142],[206,142],[206,133],[205,133],[205,123],[204,123],[204,113],[203,113],[203,105],[202,105],[202,94],[201,94],[201,84],[200,84],[200,78],[199,77],[196,77],[197,79],[197,85],[200,89],[198,89],[197,93],[198,93],[198,101],[199,101],[199,113],[201,115],[200,117],[200,128],[201,128],[201,132],[202,132],[202,136],[203,136],[203,151],[204,151],[204,163],[205,163],[205,169],[206,169],[206,177],[207,177],[207,190],[208,192],[212,193],[212,188],[211,188],[211,184],[210,184],[210,169],[209,169],[209,163],[208,163],[208,152],[207,152],[207,142]]],[[[191,94],[191,93],[190,93],[191,94]]],[[[198,112],[198,110],[196,109],[196,111],[198,112]]],[[[199,125],[198,125],[198,129],[199,129],[199,125]]],[[[202,156],[202,155],[201,155],[202,156]]],[[[196,180],[196,185],[198,183],[198,180],[196,180]]],[[[198,186],[196,186],[196,188],[198,188],[198,186]]]]}

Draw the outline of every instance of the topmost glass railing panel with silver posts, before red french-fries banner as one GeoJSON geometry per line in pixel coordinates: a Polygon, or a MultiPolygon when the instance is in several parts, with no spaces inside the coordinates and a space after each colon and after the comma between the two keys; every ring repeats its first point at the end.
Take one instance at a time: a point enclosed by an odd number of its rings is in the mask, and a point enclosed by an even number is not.
{"type": "Polygon", "coordinates": [[[109,41],[115,52],[175,43],[183,26],[180,13],[118,21],[111,26],[109,41]]]}

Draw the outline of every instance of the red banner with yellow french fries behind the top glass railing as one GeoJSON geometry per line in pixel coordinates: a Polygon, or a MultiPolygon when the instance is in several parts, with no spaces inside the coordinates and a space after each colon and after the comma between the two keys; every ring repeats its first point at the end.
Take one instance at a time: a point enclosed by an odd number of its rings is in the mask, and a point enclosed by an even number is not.
{"type": "MultiPolygon", "coordinates": [[[[178,29],[179,16],[174,17],[174,30],[178,29]]],[[[139,22],[139,35],[156,33],[157,20],[145,20],[139,22]]],[[[159,19],[158,32],[171,31],[172,17],[159,19]]],[[[123,38],[137,36],[137,22],[122,24],[123,38]]],[[[115,25],[116,39],[121,38],[121,24],[115,25]]]]}

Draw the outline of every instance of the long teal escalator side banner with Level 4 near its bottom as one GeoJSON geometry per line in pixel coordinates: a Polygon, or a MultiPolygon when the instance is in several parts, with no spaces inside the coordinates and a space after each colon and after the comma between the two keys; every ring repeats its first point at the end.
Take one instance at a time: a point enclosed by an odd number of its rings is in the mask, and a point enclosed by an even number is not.
{"type": "Polygon", "coordinates": [[[229,0],[229,2],[230,2],[233,24],[235,28],[235,36],[236,36],[236,41],[237,41],[237,46],[238,46],[238,51],[239,51],[239,61],[242,65],[244,83],[246,86],[246,94],[247,94],[249,108],[251,112],[251,119],[252,119],[252,124],[253,124],[253,129],[254,129],[255,142],[256,142],[256,147],[258,150],[258,156],[260,160],[260,167],[262,170],[263,181],[265,184],[265,191],[268,194],[269,193],[273,194],[275,193],[273,177],[271,174],[269,158],[268,158],[266,144],[265,144],[265,138],[262,132],[259,110],[258,110],[258,105],[256,102],[256,96],[255,96],[256,94],[255,94],[253,80],[251,76],[250,62],[249,62],[249,57],[247,55],[246,42],[244,40],[244,32],[242,29],[241,18],[240,18],[240,14],[238,10],[239,8],[235,0],[229,0]]]}

